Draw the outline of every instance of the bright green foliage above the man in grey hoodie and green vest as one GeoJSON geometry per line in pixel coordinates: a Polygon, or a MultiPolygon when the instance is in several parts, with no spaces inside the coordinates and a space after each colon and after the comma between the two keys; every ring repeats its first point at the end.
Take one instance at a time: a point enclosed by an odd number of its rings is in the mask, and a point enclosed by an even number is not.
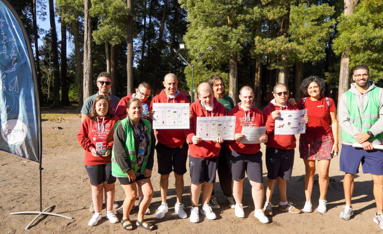
{"type": "Polygon", "coordinates": [[[333,41],[337,55],[350,55],[350,67],[366,64],[371,77],[383,77],[383,1],[362,0],[354,13],[338,18],[338,34],[333,41]]]}

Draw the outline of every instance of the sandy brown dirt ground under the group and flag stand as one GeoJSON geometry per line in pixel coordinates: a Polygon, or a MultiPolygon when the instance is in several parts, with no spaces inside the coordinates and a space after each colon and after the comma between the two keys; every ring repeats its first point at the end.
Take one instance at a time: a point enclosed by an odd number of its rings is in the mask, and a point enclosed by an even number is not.
{"type": "MultiPolygon", "coordinates": [[[[97,226],[88,226],[92,214],[89,213],[91,192],[88,175],[84,168],[84,152],[77,142],[77,132],[80,125],[80,115],[75,107],[61,109],[45,109],[42,111],[42,208],[56,205],[51,212],[74,217],[65,219],[56,216],[41,216],[33,225],[24,230],[24,227],[33,219],[34,215],[9,215],[19,211],[39,210],[39,170],[38,163],[26,160],[15,155],[0,153],[0,233],[121,233],[120,223],[112,224],[103,218],[97,226]],[[51,114],[44,114],[51,113],[51,114]],[[53,113],[53,114],[52,114],[53,113]],[[51,117],[64,118],[57,122],[49,120],[51,117]],[[62,128],[59,129],[58,127],[62,128]]],[[[341,131],[339,131],[341,132],[341,131]]],[[[262,152],[265,146],[262,145],[262,152]]],[[[156,157],[155,157],[156,158],[156,157]]],[[[156,159],[155,159],[156,160],[156,159]]],[[[313,189],[313,213],[291,214],[278,210],[279,193],[277,186],[274,191],[272,203],[274,216],[267,224],[260,223],[254,217],[254,205],[251,199],[251,186],[247,179],[244,181],[243,207],[245,218],[237,218],[234,209],[230,209],[218,182],[215,184],[216,196],[221,209],[214,210],[217,220],[207,220],[200,215],[199,223],[191,223],[189,217],[180,219],[174,212],[176,192],[174,176],[169,181],[167,203],[169,211],[163,219],[156,219],[156,208],[160,205],[159,174],[156,162],[154,163],[152,183],[154,196],[150,204],[150,215],[145,216],[147,221],[158,225],[155,233],[377,233],[383,232],[372,219],[376,212],[373,197],[373,183],[369,174],[359,173],[355,178],[353,206],[355,215],[349,221],[340,219],[339,212],[344,206],[343,173],[339,171],[339,157],[335,157],[330,164],[330,184],[327,192],[327,212],[324,214],[316,210],[319,199],[319,185],[316,179],[313,189]]],[[[360,168],[360,171],[361,168],[360,168]]],[[[295,207],[303,209],[304,194],[303,160],[299,152],[295,152],[292,178],[287,182],[287,198],[295,207]]],[[[266,167],[263,175],[266,184],[266,167]]],[[[317,178],[317,175],[316,175],[317,178]]],[[[184,176],[185,189],[183,202],[188,215],[190,214],[190,176],[184,176]]],[[[217,176],[218,181],[218,176],[217,176]]],[[[115,200],[122,204],[123,190],[117,180],[115,200]]],[[[136,205],[137,205],[136,201],[136,205]]],[[[131,212],[131,219],[137,219],[135,208],[131,212]]],[[[122,215],[117,214],[121,219],[122,215]]],[[[136,229],[133,233],[148,232],[136,229]]]]}

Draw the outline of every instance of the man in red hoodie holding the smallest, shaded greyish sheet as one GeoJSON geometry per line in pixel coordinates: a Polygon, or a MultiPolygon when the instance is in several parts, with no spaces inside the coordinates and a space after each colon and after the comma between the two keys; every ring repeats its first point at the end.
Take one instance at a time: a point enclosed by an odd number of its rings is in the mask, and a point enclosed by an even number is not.
{"type": "MultiPolygon", "coordinates": [[[[254,105],[254,92],[251,87],[243,86],[239,90],[239,99],[241,100],[233,109],[229,111],[229,115],[236,116],[235,122],[235,141],[229,141],[227,160],[233,178],[233,196],[235,199],[235,215],[244,218],[242,207],[243,179],[245,171],[248,180],[252,186],[251,195],[254,202],[254,216],[263,223],[268,223],[269,219],[262,210],[262,202],[264,196],[263,177],[262,177],[262,152],[260,144],[242,144],[244,138],[242,127],[260,127],[265,126],[266,119],[263,112],[254,105]]],[[[262,143],[267,142],[267,135],[260,137],[262,143]]]]}

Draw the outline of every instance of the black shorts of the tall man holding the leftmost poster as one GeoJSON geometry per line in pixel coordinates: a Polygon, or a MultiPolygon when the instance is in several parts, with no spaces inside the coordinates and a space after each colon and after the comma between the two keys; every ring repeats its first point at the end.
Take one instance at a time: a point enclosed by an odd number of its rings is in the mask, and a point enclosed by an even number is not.
{"type": "Polygon", "coordinates": [[[188,160],[189,145],[185,142],[180,147],[167,147],[161,143],[157,143],[157,163],[158,173],[167,175],[174,173],[183,175],[186,173],[186,161],[188,160]]]}

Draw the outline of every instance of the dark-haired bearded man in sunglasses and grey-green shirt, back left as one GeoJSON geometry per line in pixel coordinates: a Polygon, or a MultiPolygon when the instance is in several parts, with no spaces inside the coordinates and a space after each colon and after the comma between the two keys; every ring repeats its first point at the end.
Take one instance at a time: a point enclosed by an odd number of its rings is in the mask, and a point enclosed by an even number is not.
{"type": "Polygon", "coordinates": [[[108,96],[110,99],[110,106],[112,107],[112,113],[114,114],[118,105],[118,102],[120,101],[119,98],[113,95],[109,95],[109,89],[112,86],[112,79],[110,78],[110,74],[108,72],[101,72],[96,81],[98,92],[87,98],[84,101],[84,104],[82,105],[81,109],[81,123],[92,112],[92,105],[95,101],[96,97],[99,95],[105,95],[108,96]]]}

